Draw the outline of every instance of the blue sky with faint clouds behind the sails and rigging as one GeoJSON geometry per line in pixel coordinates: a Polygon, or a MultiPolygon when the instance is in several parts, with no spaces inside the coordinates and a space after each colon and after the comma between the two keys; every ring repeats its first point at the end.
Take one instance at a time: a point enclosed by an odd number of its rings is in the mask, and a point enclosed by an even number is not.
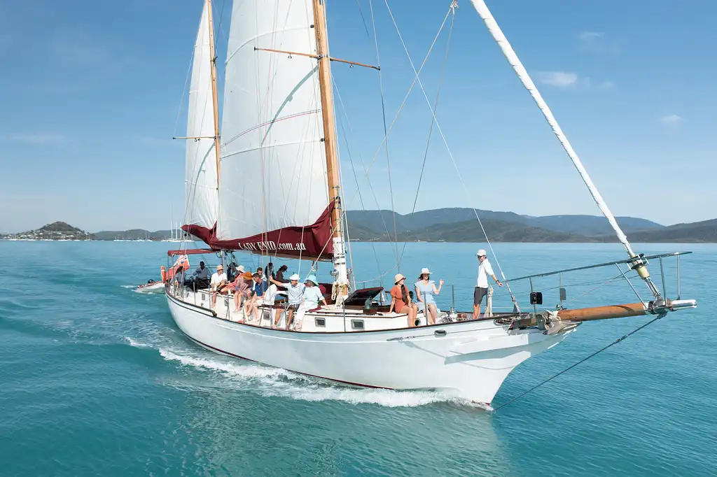
{"type": "MultiPolygon", "coordinates": [[[[389,122],[413,73],[384,0],[373,0],[389,122]]],[[[376,64],[369,1],[330,1],[334,57],[376,64]]],[[[231,1],[214,1],[225,54],[231,1]],[[223,14],[222,14],[223,10],[223,14]]],[[[389,1],[416,65],[449,0],[389,1]]],[[[167,228],[181,217],[184,85],[201,0],[0,1],[0,223],[5,232],[63,220],[88,231],[167,228]],[[180,110],[180,105],[182,105],[180,110]],[[179,120],[178,120],[179,115],[179,120]],[[170,210],[164,205],[174,201],[170,210]]],[[[717,203],[717,4],[613,0],[489,1],[616,215],[671,224],[714,218],[717,203]]],[[[431,101],[448,27],[422,73],[431,101]]],[[[333,64],[353,135],[370,163],[383,138],[379,76],[333,64]]],[[[220,85],[221,86],[221,85],[220,85]]],[[[337,99],[338,102],[338,99],[337,99]]],[[[345,128],[346,118],[337,110],[345,128]]],[[[417,210],[475,206],[530,215],[599,211],[490,38],[461,0],[437,109],[469,192],[434,130],[417,210]]],[[[389,136],[394,204],[416,196],[429,107],[416,87],[389,136]]],[[[341,125],[339,127],[341,133],[341,125]]],[[[340,134],[345,201],[355,196],[340,134]]],[[[390,208],[385,153],[359,177],[366,208],[390,208]]],[[[359,198],[348,208],[361,208],[359,198]]]]}

